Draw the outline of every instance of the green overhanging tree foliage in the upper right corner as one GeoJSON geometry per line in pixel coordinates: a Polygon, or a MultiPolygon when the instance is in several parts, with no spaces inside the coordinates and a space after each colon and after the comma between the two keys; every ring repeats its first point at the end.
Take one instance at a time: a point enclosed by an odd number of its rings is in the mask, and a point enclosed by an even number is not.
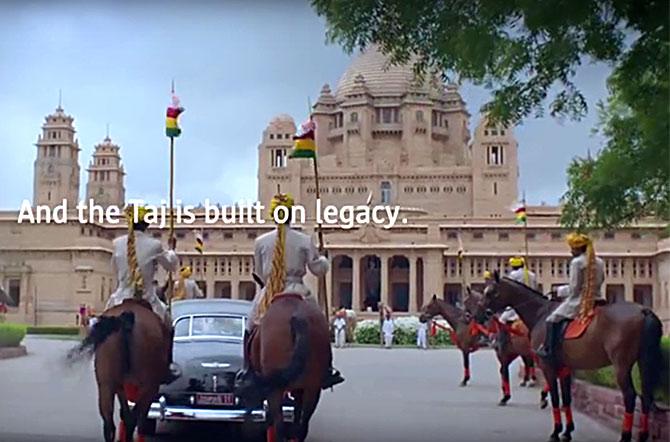
{"type": "Polygon", "coordinates": [[[351,51],[377,44],[393,63],[491,90],[493,120],[579,119],[583,63],[613,66],[599,105],[606,145],[568,170],[563,222],[612,227],[668,218],[667,0],[313,0],[328,37],[351,51]]]}

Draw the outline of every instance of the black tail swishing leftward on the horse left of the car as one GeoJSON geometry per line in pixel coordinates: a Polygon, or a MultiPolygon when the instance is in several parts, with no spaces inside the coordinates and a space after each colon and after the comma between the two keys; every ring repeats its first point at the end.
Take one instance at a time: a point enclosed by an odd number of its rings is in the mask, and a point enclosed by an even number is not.
{"type": "Polygon", "coordinates": [[[71,362],[90,357],[97,348],[112,334],[121,332],[123,335],[123,356],[126,369],[130,368],[130,332],[135,324],[135,313],[123,312],[119,316],[101,316],[88,336],[77,347],[70,350],[67,358],[71,362]]]}

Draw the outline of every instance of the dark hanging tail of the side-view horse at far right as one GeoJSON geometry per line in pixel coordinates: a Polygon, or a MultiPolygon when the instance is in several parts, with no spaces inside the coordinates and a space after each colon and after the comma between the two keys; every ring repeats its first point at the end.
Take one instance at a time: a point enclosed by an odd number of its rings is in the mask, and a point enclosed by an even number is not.
{"type": "Polygon", "coordinates": [[[639,366],[642,378],[642,400],[653,403],[653,394],[660,381],[663,356],[661,354],[661,337],[663,324],[650,309],[644,309],[644,322],[640,342],[639,366]]]}

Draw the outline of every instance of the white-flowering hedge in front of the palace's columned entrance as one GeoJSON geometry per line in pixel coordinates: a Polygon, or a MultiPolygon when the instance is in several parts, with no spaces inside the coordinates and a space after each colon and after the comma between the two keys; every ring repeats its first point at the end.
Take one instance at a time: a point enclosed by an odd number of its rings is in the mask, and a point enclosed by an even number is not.
{"type": "MultiPolygon", "coordinates": [[[[393,320],[395,328],[393,331],[394,345],[416,345],[416,331],[419,319],[416,316],[397,318],[393,320]]],[[[357,344],[380,344],[379,321],[366,319],[359,321],[354,330],[354,342],[357,344]]],[[[449,333],[442,329],[437,330],[435,336],[429,336],[430,346],[445,346],[451,344],[449,333]]]]}

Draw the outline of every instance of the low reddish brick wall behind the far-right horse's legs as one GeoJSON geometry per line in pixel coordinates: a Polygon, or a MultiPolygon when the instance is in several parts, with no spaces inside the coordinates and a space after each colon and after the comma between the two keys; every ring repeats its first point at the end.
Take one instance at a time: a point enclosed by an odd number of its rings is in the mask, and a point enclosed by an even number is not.
{"type": "MultiPolygon", "coordinates": [[[[635,433],[638,430],[640,404],[637,401],[635,410],[635,433]]],[[[623,420],[623,398],[618,390],[600,387],[588,382],[574,380],[572,389],[572,405],[575,410],[589,415],[604,425],[620,430],[623,420]]],[[[649,431],[652,440],[670,440],[670,412],[652,412],[649,418],[649,431]]],[[[576,423],[579,427],[579,422],[576,423]]]]}

